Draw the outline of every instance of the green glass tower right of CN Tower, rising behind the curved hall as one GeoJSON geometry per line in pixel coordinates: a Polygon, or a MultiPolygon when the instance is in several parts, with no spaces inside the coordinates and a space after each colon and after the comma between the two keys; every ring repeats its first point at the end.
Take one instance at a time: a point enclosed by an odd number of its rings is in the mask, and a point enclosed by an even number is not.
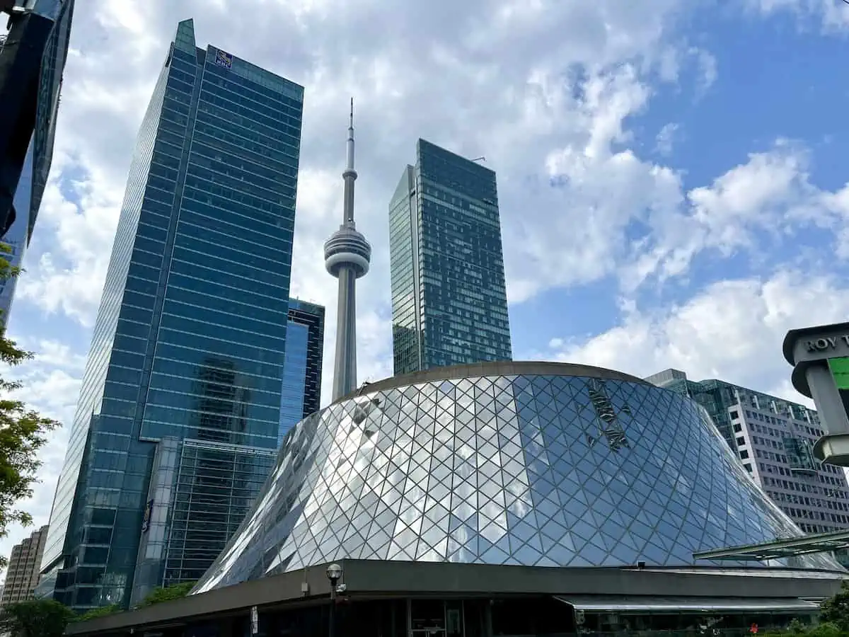
{"type": "Polygon", "coordinates": [[[396,375],[511,359],[495,172],[419,139],[389,226],[396,375]]]}

